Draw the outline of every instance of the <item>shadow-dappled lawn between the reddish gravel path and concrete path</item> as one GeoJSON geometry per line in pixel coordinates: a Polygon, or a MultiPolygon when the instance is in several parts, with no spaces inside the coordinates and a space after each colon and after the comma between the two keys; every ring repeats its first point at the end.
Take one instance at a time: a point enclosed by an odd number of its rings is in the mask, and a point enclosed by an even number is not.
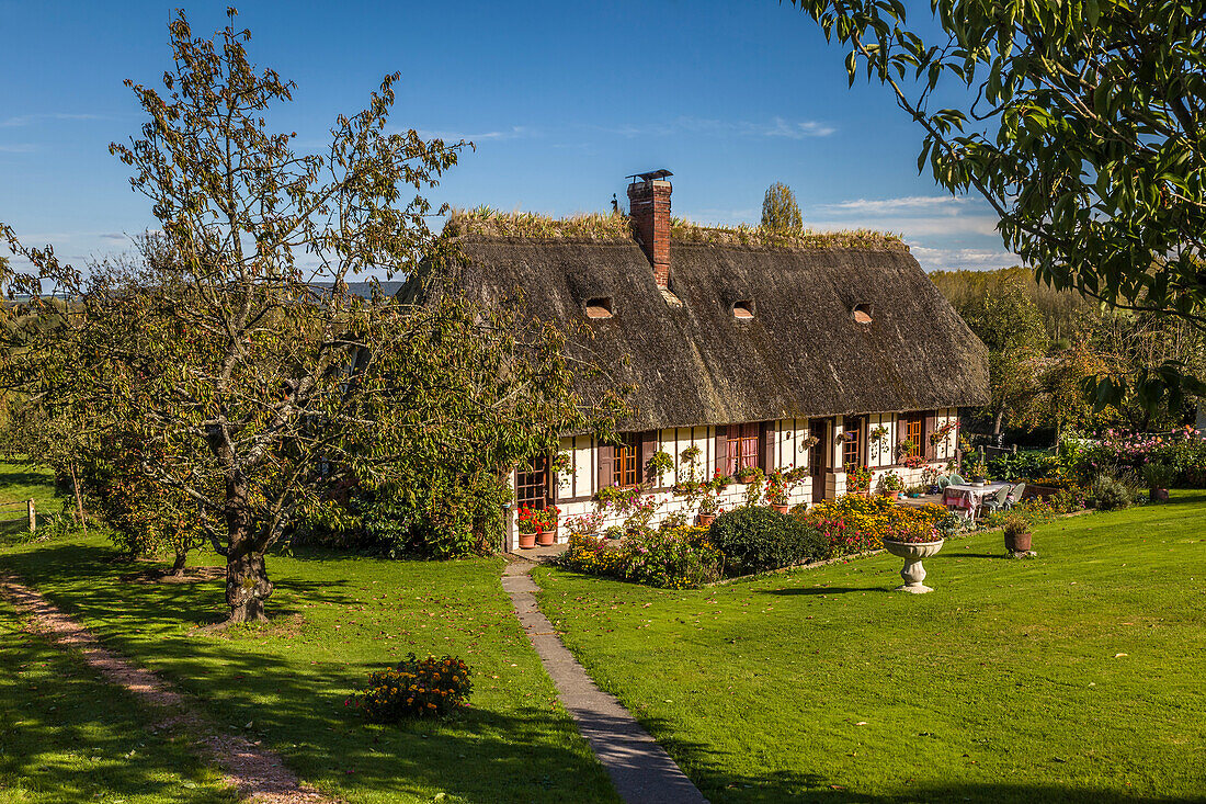
{"type": "MultiPolygon", "coordinates": [[[[99,537],[0,549],[0,570],[18,573],[106,645],[195,695],[219,724],[263,739],[303,780],[349,803],[431,802],[439,793],[449,804],[617,800],[555,703],[502,592],[502,559],[270,557],[276,623],[221,636],[195,630],[222,616],[219,581],[130,578],[142,569],[115,561],[99,537]],[[459,719],[367,726],[344,706],[370,670],[408,651],[455,653],[472,665],[472,707],[459,719]]],[[[12,683],[14,671],[6,656],[0,675],[12,683]]],[[[46,728],[53,719],[47,716],[46,728]]],[[[18,762],[34,762],[21,751],[18,762]]],[[[141,751],[124,762],[130,773],[150,773],[141,751]]],[[[71,783],[57,768],[40,783],[71,783]]],[[[111,798],[129,792],[116,782],[106,790],[111,798]]]]}

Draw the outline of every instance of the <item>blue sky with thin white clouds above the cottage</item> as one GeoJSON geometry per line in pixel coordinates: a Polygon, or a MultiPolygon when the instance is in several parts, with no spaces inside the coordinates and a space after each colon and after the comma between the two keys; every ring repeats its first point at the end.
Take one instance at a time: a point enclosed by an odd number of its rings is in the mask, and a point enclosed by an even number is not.
{"type": "MultiPolygon", "coordinates": [[[[226,2],[183,7],[194,33],[226,2]]],[[[400,128],[476,142],[429,197],[564,215],[674,171],[675,215],[756,223],[774,181],[813,228],[897,232],[927,269],[1014,264],[983,202],[917,173],[920,130],[888,91],[847,87],[843,52],[790,4],[241,2],[260,65],[294,80],[274,117],[317,146],[381,76],[400,128]]],[[[0,0],[0,221],[83,262],[154,226],[107,152],[142,122],[180,4],[0,0]]],[[[929,4],[920,11],[927,12],[929,4]]]]}

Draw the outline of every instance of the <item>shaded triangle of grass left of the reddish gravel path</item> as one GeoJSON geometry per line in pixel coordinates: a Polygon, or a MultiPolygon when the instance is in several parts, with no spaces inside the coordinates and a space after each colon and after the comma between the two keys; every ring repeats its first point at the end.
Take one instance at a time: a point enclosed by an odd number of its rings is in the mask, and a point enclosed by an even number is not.
{"type": "Polygon", "coordinates": [[[0,600],[0,802],[234,802],[154,713],[0,600]]]}

